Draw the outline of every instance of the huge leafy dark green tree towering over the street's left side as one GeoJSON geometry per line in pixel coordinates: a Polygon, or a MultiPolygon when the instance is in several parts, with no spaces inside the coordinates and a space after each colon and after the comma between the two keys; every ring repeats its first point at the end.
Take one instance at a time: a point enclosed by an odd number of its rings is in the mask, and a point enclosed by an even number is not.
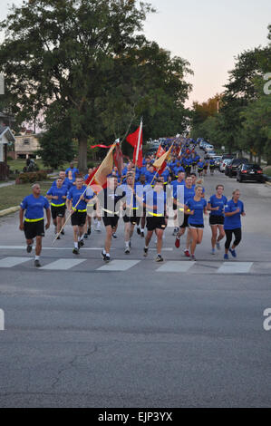
{"type": "Polygon", "coordinates": [[[136,0],[32,0],[2,23],[0,109],[44,129],[40,155],[56,167],[88,145],[124,140],[144,120],[144,139],[187,129],[189,63],[142,34],[151,5],[136,0]]]}

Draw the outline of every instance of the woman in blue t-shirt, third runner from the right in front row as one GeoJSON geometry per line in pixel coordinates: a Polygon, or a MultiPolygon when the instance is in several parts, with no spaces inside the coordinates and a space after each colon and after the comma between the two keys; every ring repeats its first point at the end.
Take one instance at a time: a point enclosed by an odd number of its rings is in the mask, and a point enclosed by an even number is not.
{"type": "Polygon", "coordinates": [[[190,260],[196,260],[195,250],[197,244],[200,244],[203,237],[204,219],[203,214],[207,215],[207,201],[202,198],[202,187],[195,188],[195,197],[189,198],[185,204],[185,214],[189,215],[189,230],[191,237],[190,260]]]}

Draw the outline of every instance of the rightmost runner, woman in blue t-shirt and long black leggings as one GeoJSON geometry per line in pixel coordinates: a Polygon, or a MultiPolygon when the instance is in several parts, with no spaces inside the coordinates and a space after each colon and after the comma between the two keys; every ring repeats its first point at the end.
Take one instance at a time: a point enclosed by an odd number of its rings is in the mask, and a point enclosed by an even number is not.
{"type": "Polygon", "coordinates": [[[226,232],[225,255],[224,259],[228,259],[228,251],[232,257],[237,257],[236,247],[240,244],[242,238],[241,216],[246,216],[244,203],[240,198],[240,191],[236,189],[233,192],[233,197],[225,206],[225,222],[224,229],[226,232]],[[232,234],[235,235],[235,241],[230,248],[232,234]]]}

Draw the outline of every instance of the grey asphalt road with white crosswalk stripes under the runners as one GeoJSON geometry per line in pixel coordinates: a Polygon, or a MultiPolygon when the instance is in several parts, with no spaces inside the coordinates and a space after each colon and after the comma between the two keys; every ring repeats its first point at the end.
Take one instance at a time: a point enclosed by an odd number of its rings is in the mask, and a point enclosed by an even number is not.
{"type": "Polygon", "coordinates": [[[247,210],[227,265],[222,250],[210,254],[206,219],[196,265],[183,242],[173,247],[172,228],[163,265],[154,242],[142,257],[137,235],[125,256],[122,227],[113,263],[102,263],[102,231],[75,265],[68,225],[54,247],[47,232],[37,270],[18,214],[0,219],[0,407],[270,406],[271,187],[217,172],[205,179],[207,194],[221,182],[227,197],[241,189],[247,210]]]}

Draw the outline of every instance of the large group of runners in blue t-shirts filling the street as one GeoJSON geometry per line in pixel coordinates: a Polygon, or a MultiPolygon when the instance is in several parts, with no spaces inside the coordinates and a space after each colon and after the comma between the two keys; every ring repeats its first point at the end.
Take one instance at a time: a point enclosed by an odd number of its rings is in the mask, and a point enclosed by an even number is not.
{"type": "MultiPolygon", "coordinates": [[[[198,155],[195,147],[191,148],[187,142],[181,150],[183,154],[180,160],[187,159],[189,155],[198,155]],[[191,152],[192,150],[194,152],[191,152]]],[[[33,193],[25,197],[21,203],[19,215],[19,228],[24,230],[27,253],[31,253],[36,238],[34,265],[41,266],[44,228],[50,227],[52,218],[56,238],[60,239],[64,235],[63,226],[67,215],[71,216],[73,226],[75,256],[80,255],[80,248],[90,237],[92,228],[96,232],[102,231],[103,221],[105,241],[102,258],[105,262],[109,262],[111,240],[117,237],[119,219],[122,218],[126,255],[131,253],[131,238],[134,229],[137,228],[137,234],[145,240],[142,247],[143,256],[148,256],[150,240],[155,233],[157,247],[155,260],[162,262],[163,234],[170,222],[170,225],[173,224],[177,248],[180,246],[180,238],[187,230],[184,255],[195,261],[196,247],[203,237],[204,215],[209,212],[209,225],[212,231],[211,253],[215,254],[216,249],[220,249],[220,243],[226,237],[224,258],[228,259],[228,253],[232,257],[237,257],[236,247],[241,241],[241,216],[245,216],[244,204],[239,199],[239,190],[235,190],[232,198],[227,200],[223,194],[223,185],[218,185],[216,192],[207,199],[202,179],[198,179],[196,172],[191,169],[187,168],[185,171],[182,165],[179,165],[178,158],[173,156],[160,175],[153,168],[152,161],[152,156],[144,159],[140,169],[135,169],[129,161],[122,169],[121,175],[117,168],[114,168],[108,176],[107,188],[100,191],[92,186],[86,187],[84,181],[89,174],[82,178],[73,164],[69,169],[60,171],[46,197],[41,195],[40,185],[34,184],[33,193]],[[45,226],[44,209],[47,218],[45,226]],[[232,244],[233,235],[235,239],[232,244]]],[[[89,170],[89,173],[91,172],[92,169],[89,170]]]]}

